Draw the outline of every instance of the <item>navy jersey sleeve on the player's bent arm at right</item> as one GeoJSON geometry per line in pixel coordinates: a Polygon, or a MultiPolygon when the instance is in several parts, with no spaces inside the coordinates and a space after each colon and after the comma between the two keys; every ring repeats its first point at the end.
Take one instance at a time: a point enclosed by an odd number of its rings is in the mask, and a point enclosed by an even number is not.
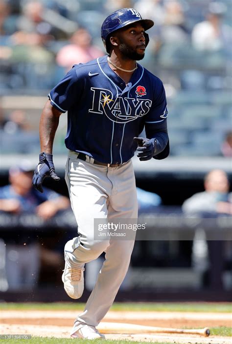
{"type": "Polygon", "coordinates": [[[156,87],[153,102],[150,111],[145,118],[145,128],[152,129],[167,129],[167,101],[165,90],[160,79],[156,87]]]}

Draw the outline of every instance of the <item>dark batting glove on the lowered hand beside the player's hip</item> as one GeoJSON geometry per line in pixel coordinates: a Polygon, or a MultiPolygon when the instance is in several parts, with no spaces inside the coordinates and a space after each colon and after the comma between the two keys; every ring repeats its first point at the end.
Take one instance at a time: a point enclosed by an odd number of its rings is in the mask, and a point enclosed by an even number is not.
{"type": "Polygon", "coordinates": [[[45,152],[39,155],[40,162],[35,168],[34,175],[32,177],[32,185],[33,187],[40,191],[41,193],[44,192],[42,188],[43,180],[50,176],[54,180],[60,180],[60,177],[55,172],[52,154],[47,154],[45,152]]]}

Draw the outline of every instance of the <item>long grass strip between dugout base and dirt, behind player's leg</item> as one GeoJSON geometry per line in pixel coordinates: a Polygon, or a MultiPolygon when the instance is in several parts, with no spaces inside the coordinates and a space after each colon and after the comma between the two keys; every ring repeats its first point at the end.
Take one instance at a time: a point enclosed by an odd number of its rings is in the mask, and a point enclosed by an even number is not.
{"type": "MultiPolygon", "coordinates": [[[[1,310],[83,310],[85,303],[54,302],[54,303],[11,303],[1,302],[1,310]]],[[[159,312],[225,312],[232,313],[232,303],[213,302],[115,302],[112,311],[159,311],[159,312]]]]}

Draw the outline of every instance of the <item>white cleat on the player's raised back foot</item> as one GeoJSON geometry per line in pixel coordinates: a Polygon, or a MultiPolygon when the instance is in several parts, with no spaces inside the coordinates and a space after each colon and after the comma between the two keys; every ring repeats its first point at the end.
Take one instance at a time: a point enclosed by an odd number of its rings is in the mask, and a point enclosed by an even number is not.
{"type": "Polygon", "coordinates": [[[85,268],[71,268],[65,262],[62,281],[66,293],[72,299],[79,299],[84,291],[84,271],[85,268]]]}

